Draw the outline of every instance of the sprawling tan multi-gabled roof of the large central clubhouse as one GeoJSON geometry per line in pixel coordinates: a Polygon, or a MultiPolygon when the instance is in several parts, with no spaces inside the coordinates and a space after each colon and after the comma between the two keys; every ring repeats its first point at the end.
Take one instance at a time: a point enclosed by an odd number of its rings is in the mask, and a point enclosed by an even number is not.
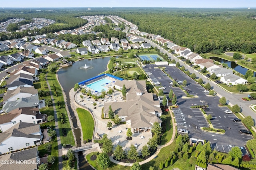
{"type": "Polygon", "coordinates": [[[120,81],[117,80],[115,85],[122,87],[126,85],[127,101],[124,103],[113,102],[104,104],[104,113],[108,113],[109,106],[115,111],[118,116],[126,116],[126,121],[131,121],[132,128],[152,127],[152,124],[157,121],[155,112],[162,113],[159,106],[159,101],[154,100],[152,93],[147,93],[145,81],[120,81]],[[142,92],[142,95],[137,95],[142,92]]]}

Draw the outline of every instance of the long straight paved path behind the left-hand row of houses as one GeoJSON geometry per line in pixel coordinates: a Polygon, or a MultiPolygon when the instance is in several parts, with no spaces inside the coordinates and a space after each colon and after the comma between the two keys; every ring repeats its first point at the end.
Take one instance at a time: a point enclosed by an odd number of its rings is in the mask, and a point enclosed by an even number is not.
{"type": "Polygon", "coordinates": [[[57,118],[57,112],[56,112],[56,107],[55,107],[55,103],[54,103],[54,99],[52,97],[52,91],[49,85],[49,82],[47,80],[47,74],[46,74],[46,82],[50,91],[50,95],[52,98],[52,106],[53,106],[53,110],[54,110],[54,119],[55,119],[55,129],[56,129],[56,136],[57,136],[57,142],[58,142],[58,165],[59,165],[59,170],[62,169],[63,164],[62,164],[62,145],[60,142],[60,131],[59,131],[59,127],[58,127],[58,118],[57,118]]]}

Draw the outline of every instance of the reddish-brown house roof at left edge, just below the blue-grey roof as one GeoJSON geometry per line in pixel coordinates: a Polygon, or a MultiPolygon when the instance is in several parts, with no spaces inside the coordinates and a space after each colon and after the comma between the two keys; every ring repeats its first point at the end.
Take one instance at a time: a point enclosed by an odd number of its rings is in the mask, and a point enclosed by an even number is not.
{"type": "MultiPolygon", "coordinates": [[[[23,115],[31,115],[31,116],[36,116],[39,114],[39,108],[38,107],[22,107],[22,108],[17,108],[12,111],[10,111],[7,114],[1,115],[0,116],[0,124],[7,123],[12,121],[15,117],[23,114],[23,115]]],[[[41,114],[40,114],[41,115],[41,114]]]]}

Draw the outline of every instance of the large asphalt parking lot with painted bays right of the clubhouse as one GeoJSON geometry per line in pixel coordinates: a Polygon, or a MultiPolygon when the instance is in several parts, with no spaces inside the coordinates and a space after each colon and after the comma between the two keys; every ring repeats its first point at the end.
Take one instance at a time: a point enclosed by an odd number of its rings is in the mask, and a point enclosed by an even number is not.
{"type": "MultiPolygon", "coordinates": [[[[187,86],[184,87],[191,95],[198,95],[198,98],[193,99],[182,99],[182,96],[186,94],[180,90],[180,88],[173,88],[170,85],[170,78],[168,76],[163,76],[164,72],[157,68],[157,65],[147,64],[147,68],[144,69],[146,72],[151,72],[151,78],[157,79],[160,85],[166,87],[166,91],[172,89],[177,96],[177,104],[179,108],[173,109],[174,116],[176,118],[176,123],[178,128],[185,128],[190,133],[189,136],[192,138],[206,139],[211,142],[212,148],[216,148],[222,152],[229,152],[232,146],[239,146],[244,148],[244,144],[247,140],[252,139],[252,136],[246,134],[240,134],[240,129],[246,129],[241,122],[234,122],[233,119],[236,118],[234,114],[226,114],[225,110],[227,107],[218,107],[219,97],[208,97],[208,93],[204,93],[204,88],[191,79],[188,75],[180,71],[175,66],[164,66],[165,71],[172,79],[176,81],[188,82],[187,86]],[[208,127],[208,123],[199,109],[191,109],[190,106],[193,105],[209,105],[209,109],[205,110],[207,115],[212,115],[212,125],[214,128],[221,128],[226,130],[225,134],[215,134],[209,132],[203,132],[200,127],[208,127]],[[228,130],[230,128],[230,130],[228,130]]],[[[168,95],[167,95],[168,96],[168,95]]],[[[242,152],[246,152],[242,150],[242,152]]]]}

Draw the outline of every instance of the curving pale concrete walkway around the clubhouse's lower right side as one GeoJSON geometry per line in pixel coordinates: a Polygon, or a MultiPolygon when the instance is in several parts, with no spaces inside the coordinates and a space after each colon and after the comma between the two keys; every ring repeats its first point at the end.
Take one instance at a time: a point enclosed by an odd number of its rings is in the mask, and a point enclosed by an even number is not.
{"type": "MultiPolygon", "coordinates": [[[[170,111],[170,114],[171,114],[171,117],[172,117],[172,128],[173,128],[173,129],[172,129],[173,132],[172,132],[172,138],[171,138],[171,140],[170,140],[168,143],[164,144],[164,145],[158,145],[156,152],[155,152],[152,156],[150,156],[148,159],[139,162],[140,165],[146,164],[146,163],[148,163],[150,160],[153,160],[153,159],[159,154],[159,152],[160,152],[160,150],[161,150],[162,148],[164,148],[164,147],[166,147],[166,146],[169,146],[169,145],[172,144],[172,142],[174,141],[174,137],[175,137],[175,134],[176,134],[176,123],[174,123],[174,118],[173,118],[173,115],[172,115],[172,111],[170,110],[170,107],[169,107],[169,111],[170,111]]],[[[119,162],[119,161],[117,161],[117,160],[114,160],[114,159],[113,159],[113,156],[110,156],[110,160],[111,160],[111,162],[114,162],[115,164],[118,164],[118,165],[122,165],[122,166],[132,166],[132,163],[125,163],[125,162],[119,162]]]]}

